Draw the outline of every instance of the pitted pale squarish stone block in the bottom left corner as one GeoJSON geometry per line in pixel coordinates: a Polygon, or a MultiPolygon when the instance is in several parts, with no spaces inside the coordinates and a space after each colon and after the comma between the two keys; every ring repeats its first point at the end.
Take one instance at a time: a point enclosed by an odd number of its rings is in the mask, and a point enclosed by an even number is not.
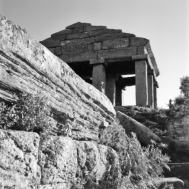
{"type": "Polygon", "coordinates": [[[32,189],[40,184],[39,136],[0,130],[0,188],[32,189]]]}

